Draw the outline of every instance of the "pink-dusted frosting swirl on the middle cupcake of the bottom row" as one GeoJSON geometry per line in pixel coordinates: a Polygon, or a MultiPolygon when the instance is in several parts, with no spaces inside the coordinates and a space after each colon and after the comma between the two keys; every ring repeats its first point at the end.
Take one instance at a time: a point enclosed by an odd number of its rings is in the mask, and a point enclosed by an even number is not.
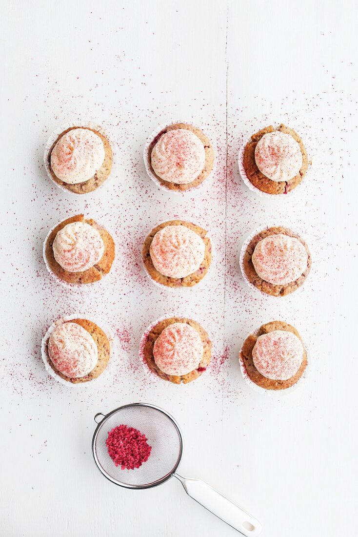
{"type": "Polygon", "coordinates": [[[153,347],[154,360],[167,375],[186,375],[196,369],[203,355],[198,331],[186,323],[167,326],[153,347]]]}

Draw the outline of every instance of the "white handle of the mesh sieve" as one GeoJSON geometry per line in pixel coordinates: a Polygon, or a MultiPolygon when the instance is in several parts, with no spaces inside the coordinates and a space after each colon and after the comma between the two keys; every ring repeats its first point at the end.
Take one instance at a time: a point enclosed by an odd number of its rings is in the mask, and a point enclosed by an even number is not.
{"type": "Polygon", "coordinates": [[[179,474],[173,475],[181,482],[186,493],[191,498],[234,529],[237,529],[238,532],[246,537],[258,537],[261,534],[262,526],[258,520],[231,502],[231,500],[225,498],[210,485],[200,481],[200,479],[182,477],[179,474]]]}

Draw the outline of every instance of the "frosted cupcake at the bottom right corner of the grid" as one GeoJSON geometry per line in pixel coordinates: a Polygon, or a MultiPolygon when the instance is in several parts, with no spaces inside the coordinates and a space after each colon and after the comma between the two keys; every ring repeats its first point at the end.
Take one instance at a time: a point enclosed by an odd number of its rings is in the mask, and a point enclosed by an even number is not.
{"type": "Polygon", "coordinates": [[[240,366],[249,383],[265,390],[283,390],[301,378],[307,366],[307,354],[293,326],[273,321],[245,339],[240,366]]]}

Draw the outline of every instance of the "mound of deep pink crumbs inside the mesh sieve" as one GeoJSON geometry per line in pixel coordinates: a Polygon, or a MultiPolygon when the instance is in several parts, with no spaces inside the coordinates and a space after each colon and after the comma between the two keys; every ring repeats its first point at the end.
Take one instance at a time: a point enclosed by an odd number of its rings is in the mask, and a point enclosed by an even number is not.
{"type": "Polygon", "coordinates": [[[122,470],[140,468],[143,462],[148,461],[152,449],[145,434],[127,425],[119,425],[109,431],[106,446],[115,466],[122,470]]]}

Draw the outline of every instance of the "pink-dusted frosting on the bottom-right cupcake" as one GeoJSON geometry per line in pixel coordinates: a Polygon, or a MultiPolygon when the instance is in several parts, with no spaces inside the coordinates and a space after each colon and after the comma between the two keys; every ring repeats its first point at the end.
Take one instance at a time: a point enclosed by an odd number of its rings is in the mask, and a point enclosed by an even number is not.
{"type": "Polygon", "coordinates": [[[303,353],[303,344],[293,332],[274,330],[257,338],[252,359],[267,379],[288,380],[301,366],[303,353]]]}

